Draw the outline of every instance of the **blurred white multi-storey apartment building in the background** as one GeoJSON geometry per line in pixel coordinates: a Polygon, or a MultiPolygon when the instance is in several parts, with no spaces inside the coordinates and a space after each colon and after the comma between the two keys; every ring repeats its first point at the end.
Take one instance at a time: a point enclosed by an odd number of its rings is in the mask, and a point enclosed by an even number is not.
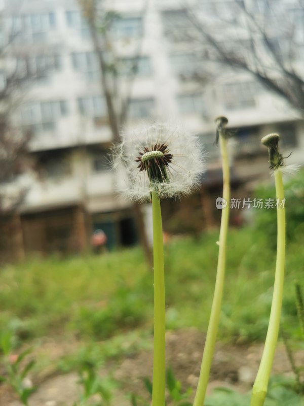
{"type": "MultiPolygon", "coordinates": [[[[236,12],[231,0],[200,3],[210,19],[216,7],[236,12]]],[[[258,8],[265,2],[254,3],[258,8]]],[[[289,3],[295,7],[296,2],[289,3]]],[[[109,246],[134,243],[131,206],[114,192],[116,175],[108,168],[112,133],[96,49],[78,2],[7,0],[2,7],[6,29],[17,34],[7,58],[17,61],[21,76],[25,71],[37,74],[16,113],[16,123],[32,133],[35,171],[23,177],[27,193],[10,229],[15,255],[78,252],[98,228],[107,234],[109,246]]],[[[267,151],[259,140],[271,131],[284,133],[283,151],[293,151],[289,162],[303,163],[303,122],[284,99],[249,74],[228,68],[216,79],[206,75],[205,81],[196,80],[204,52],[195,42],[172,38],[172,27],[185,23],[178,2],[104,1],[103,7],[117,12],[108,46],[118,61],[118,94],[128,99],[124,126],[177,117],[199,134],[208,152],[204,195],[219,190],[221,182],[214,146],[218,115],[227,116],[238,130],[232,147],[236,185],[268,174],[267,151]]],[[[297,57],[304,70],[303,54],[297,57]]],[[[5,80],[3,69],[0,82],[5,80]]],[[[13,190],[10,184],[5,187],[13,190]]]]}

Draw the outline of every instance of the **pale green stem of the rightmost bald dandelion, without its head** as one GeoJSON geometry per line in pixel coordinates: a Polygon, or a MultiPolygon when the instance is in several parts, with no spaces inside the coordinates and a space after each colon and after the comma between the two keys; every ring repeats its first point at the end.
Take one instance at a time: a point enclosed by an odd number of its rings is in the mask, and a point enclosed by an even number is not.
{"type": "MultiPolygon", "coordinates": [[[[280,171],[275,171],[275,180],[276,180],[277,199],[284,199],[284,186],[282,174],[280,171]]],[[[250,406],[262,406],[264,404],[280,328],[283,287],[284,287],[284,268],[285,268],[284,207],[278,206],[277,216],[278,216],[278,243],[277,243],[277,263],[276,263],[274,293],[271,305],[268,331],[265,340],[265,346],[260,366],[258,369],[258,373],[253,385],[250,406]]]]}

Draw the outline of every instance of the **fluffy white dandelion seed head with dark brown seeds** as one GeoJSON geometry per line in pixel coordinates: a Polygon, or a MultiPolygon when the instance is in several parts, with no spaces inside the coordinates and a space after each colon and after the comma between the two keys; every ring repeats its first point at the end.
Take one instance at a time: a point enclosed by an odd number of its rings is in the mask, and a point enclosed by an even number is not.
{"type": "Polygon", "coordinates": [[[141,125],[123,134],[113,165],[124,185],[118,190],[131,200],[148,201],[187,195],[205,172],[198,137],[170,123],[141,125]]]}

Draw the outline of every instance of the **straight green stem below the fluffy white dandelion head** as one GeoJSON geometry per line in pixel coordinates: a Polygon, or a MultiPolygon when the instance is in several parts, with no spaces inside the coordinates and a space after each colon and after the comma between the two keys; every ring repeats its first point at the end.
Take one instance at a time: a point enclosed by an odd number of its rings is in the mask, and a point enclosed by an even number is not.
{"type": "Polygon", "coordinates": [[[165,405],[165,273],[160,200],[152,192],[154,252],[154,358],[152,406],[165,405]]]}

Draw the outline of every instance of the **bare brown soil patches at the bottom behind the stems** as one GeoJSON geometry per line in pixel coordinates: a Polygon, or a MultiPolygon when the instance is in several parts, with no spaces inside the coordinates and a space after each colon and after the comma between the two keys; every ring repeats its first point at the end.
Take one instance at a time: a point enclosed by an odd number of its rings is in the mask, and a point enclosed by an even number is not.
{"type": "MultiPolygon", "coordinates": [[[[166,335],[167,365],[171,365],[176,378],[183,388],[196,388],[200,372],[204,334],[197,329],[168,331],[166,335]]],[[[45,343],[39,351],[48,352],[55,360],[71,351],[71,343],[45,343]]],[[[241,392],[249,391],[252,387],[259,365],[263,346],[261,344],[229,345],[218,343],[211,369],[208,393],[217,386],[229,386],[241,392]]],[[[299,364],[304,362],[304,351],[298,351],[295,359],[299,364]]],[[[146,396],[142,377],[151,377],[153,353],[141,351],[129,354],[121,361],[110,361],[100,371],[102,376],[112,374],[120,383],[116,389],[113,405],[130,406],[125,394],[135,392],[146,396]]],[[[283,345],[278,345],[273,374],[290,375],[291,366],[283,345]]],[[[30,406],[72,406],[77,399],[79,386],[75,373],[56,375],[54,371],[45,371],[44,375],[32,377],[39,389],[31,396],[30,406]]],[[[1,406],[19,406],[20,403],[8,388],[0,387],[1,406]]]]}

